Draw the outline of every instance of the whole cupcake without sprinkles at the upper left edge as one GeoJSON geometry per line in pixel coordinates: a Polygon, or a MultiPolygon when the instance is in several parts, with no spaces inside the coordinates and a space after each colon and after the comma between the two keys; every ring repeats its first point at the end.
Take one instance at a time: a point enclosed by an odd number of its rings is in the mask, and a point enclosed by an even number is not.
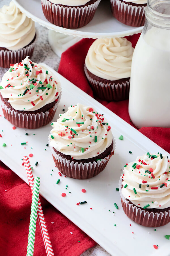
{"type": "Polygon", "coordinates": [[[0,67],[31,57],[35,38],[34,22],[13,2],[0,9],[0,67]]]}

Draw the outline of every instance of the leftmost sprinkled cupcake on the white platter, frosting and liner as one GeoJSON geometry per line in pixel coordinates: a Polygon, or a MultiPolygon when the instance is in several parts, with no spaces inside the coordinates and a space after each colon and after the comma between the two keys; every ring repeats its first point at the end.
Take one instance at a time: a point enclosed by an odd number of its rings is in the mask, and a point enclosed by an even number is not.
{"type": "Polygon", "coordinates": [[[0,83],[4,117],[20,128],[34,129],[48,124],[61,95],[58,78],[46,67],[31,62],[11,64],[0,83]]]}

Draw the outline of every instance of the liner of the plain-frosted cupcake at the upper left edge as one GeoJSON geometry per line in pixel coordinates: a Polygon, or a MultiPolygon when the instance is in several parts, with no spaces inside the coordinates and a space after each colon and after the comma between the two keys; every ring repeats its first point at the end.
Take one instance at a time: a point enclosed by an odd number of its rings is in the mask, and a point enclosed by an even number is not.
{"type": "Polygon", "coordinates": [[[33,54],[35,41],[28,46],[12,51],[12,50],[0,50],[0,67],[9,68],[10,63],[20,63],[26,56],[31,57],[33,54]]]}

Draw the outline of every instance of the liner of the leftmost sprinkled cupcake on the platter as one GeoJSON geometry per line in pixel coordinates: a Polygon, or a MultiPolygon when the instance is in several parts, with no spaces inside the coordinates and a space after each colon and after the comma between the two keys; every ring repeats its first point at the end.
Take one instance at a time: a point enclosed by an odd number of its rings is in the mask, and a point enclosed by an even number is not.
{"type": "Polygon", "coordinates": [[[56,113],[59,101],[48,111],[41,114],[32,113],[18,113],[18,111],[11,110],[1,101],[2,111],[4,117],[13,125],[25,129],[37,129],[50,123],[56,113]]]}

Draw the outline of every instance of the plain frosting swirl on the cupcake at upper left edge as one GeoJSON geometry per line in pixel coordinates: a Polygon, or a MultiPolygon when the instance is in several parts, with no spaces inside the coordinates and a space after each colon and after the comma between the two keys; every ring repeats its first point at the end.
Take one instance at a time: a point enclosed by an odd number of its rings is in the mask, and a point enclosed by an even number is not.
{"type": "Polygon", "coordinates": [[[13,2],[0,9],[0,47],[18,50],[35,36],[35,25],[13,2]]]}

